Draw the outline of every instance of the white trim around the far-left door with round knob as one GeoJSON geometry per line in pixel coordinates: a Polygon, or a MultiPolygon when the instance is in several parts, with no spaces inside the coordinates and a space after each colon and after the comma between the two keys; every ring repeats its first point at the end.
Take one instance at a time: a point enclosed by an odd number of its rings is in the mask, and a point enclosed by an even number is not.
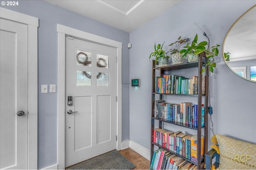
{"type": "Polygon", "coordinates": [[[28,169],[37,169],[38,18],[0,8],[0,18],[28,25],[28,169]]]}

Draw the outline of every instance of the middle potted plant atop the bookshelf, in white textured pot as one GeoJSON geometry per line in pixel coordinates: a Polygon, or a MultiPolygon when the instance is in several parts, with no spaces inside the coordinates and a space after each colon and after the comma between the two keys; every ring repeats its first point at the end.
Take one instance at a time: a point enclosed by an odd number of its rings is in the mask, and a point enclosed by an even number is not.
{"type": "MultiPolygon", "coordinates": [[[[174,49],[170,49],[170,51],[168,51],[167,53],[170,53],[172,55],[172,64],[179,64],[182,63],[182,55],[179,53],[180,52],[180,45],[182,43],[185,43],[186,41],[189,41],[188,38],[186,39],[180,39],[180,37],[178,37],[178,41],[175,41],[174,43],[171,43],[169,46],[172,46],[175,44],[175,48],[174,49]]],[[[167,54],[166,53],[166,54],[167,54]]]]}

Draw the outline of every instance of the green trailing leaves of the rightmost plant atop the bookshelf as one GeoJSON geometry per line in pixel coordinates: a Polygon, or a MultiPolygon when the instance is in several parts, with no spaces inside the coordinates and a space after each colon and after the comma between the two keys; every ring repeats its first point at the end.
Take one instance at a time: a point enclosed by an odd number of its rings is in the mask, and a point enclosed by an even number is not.
{"type": "MultiPolygon", "coordinates": [[[[182,57],[186,57],[187,55],[198,55],[205,52],[206,57],[206,66],[209,66],[210,72],[214,71],[214,68],[216,67],[216,63],[214,62],[214,57],[218,56],[219,50],[218,47],[220,45],[216,44],[215,46],[212,46],[211,49],[206,49],[206,45],[208,45],[207,41],[202,41],[200,43],[197,43],[198,35],[194,37],[194,40],[192,41],[191,45],[189,46],[188,43],[184,47],[185,49],[180,50],[180,54],[183,54],[182,57]]],[[[202,68],[202,73],[205,71],[205,68],[202,68]]]]}

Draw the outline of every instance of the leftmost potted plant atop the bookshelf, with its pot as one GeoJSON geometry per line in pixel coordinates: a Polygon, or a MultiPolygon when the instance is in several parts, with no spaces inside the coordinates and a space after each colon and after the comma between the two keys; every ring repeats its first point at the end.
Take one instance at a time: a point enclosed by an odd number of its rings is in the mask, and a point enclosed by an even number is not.
{"type": "Polygon", "coordinates": [[[152,56],[156,57],[156,61],[158,61],[158,66],[166,66],[166,65],[168,65],[168,61],[169,61],[168,59],[170,58],[168,55],[165,55],[165,51],[162,49],[164,43],[162,45],[158,44],[157,46],[156,46],[156,43],[155,43],[155,46],[154,46],[155,51],[152,52],[149,55],[149,59],[152,56]]]}

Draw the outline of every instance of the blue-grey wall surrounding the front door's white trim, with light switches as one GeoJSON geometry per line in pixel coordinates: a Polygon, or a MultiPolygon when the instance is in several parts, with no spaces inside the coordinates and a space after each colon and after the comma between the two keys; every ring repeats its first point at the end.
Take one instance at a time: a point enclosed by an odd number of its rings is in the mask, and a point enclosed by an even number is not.
{"type": "MultiPolygon", "coordinates": [[[[42,84],[56,84],[57,23],[123,43],[122,82],[129,82],[129,33],[42,0],[20,0],[1,6],[39,18],[38,27],[38,168],[57,164],[57,93],[41,94],[42,84]]],[[[129,139],[129,84],[122,86],[122,141],[129,139]]]]}

